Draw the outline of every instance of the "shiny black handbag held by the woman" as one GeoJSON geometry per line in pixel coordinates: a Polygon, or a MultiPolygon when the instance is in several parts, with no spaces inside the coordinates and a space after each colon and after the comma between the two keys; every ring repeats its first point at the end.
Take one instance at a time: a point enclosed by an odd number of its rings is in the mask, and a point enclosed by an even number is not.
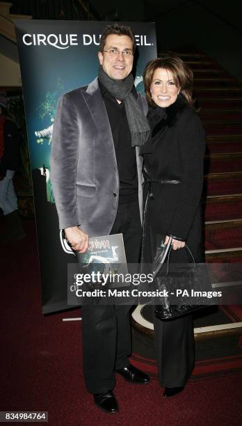
{"type": "Polygon", "coordinates": [[[209,304],[207,292],[212,290],[206,265],[195,263],[193,254],[187,245],[184,248],[191,256],[192,262],[182,265],[170,264],[171,243],[172,237],[166,245],[161,239],[152,264],[154,286],[163,294],[159,298],[159,304],[155,306],[155,315],[159,319],[172,319],[205,308],[209,304]],[[171,297],[170,294],[177,294],[177,290],[181,297],[178,299],[176,296],[171,297]],[[191,297],[191,294],[200,295],[191,297]]]}

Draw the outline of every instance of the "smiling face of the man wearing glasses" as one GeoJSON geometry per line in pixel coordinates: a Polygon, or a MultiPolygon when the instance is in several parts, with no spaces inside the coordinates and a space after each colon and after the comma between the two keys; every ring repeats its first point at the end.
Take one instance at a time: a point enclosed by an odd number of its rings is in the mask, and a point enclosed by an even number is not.
{"type": "MultiPolygon", "coordinates": [[[[109,34],[106,37],[104,50],[117,50],[119,52],[133,52],[133,42],[129,36],[118,36],[118,34],[109,34]]],[[[98,52],[99,63],[103,70],[113,80],[123,80],[131,73],[133,68],[134,56],[119,53],[113,56],[108,52],[98,52]]]]}

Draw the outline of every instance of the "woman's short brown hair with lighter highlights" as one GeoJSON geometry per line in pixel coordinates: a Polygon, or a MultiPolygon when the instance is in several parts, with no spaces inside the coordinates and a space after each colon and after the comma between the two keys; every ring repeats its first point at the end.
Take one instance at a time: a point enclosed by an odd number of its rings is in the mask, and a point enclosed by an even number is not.
{"type": "Polygon", "coordinates": [[[180,93],[186,97],[186,100],[194,109],[194,101],[192,97],[193,72],[190,68],[188,68],[184,61],[179,58],[179,56],[175,56],[174,54],[165,54],[161,56],[161,58],[154,59],[154,61],[147,64],[143,74],[147,102],[154,106],[154,101],[152,100],[150,93],[150,86],[152,84],[154,71],[157,68],[163,68],[171,72],[175,80],[175,85],[180,88],[180,93]]]}

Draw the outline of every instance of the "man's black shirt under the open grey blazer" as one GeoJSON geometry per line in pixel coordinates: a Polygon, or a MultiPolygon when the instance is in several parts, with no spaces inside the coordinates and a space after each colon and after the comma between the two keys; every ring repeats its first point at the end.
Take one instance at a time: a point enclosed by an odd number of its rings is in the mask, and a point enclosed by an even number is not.
{"type": "MultiPolygon", "coordinates": [[[[124,103],[118,104],[106,87],[99,81],[108,120],[113,135],[113,143],[120,178],[119,203],[131,203],[138,198],[138,175],[136,166],[136,149],[131,147],[131,133],[129,130],[124,103]]],[[[132,91],[137,97],[136,89],[132,91]]]]}

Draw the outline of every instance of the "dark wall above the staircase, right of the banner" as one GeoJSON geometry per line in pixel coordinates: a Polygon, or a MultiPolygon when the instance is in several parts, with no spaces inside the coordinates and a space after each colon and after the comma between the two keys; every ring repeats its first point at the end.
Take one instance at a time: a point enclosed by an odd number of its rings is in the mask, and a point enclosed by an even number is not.
{"type": "MultiPolygon", "coordinates": [[[[232,15],[227,18],[232,21],[232,15]]],[[[242,33],[234,22],[230,25],[194,1],[183,2],[155,20],[160,49],[195,46],[242,82],[242,33]]]]}

